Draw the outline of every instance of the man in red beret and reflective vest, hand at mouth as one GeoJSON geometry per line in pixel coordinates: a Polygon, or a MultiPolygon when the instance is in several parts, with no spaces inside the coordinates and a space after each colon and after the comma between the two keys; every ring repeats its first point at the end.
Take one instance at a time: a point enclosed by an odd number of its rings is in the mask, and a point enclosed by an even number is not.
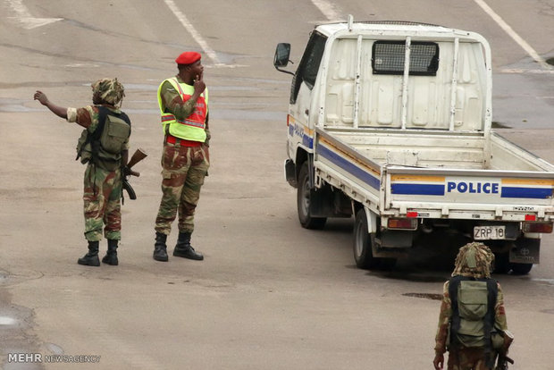
{"type": "Polygon", "coordinates": [[[179,73],[158,88],[164,128],[162,200],[155,218],[156,261],[167,261],[167,236],[179,213],[179,237],[173,256],[202,260],[190,245],[200,189],[210,165],[208,143],[208,90],[203,80],[201,55],[182,53],[175,59],[179,73]]]}

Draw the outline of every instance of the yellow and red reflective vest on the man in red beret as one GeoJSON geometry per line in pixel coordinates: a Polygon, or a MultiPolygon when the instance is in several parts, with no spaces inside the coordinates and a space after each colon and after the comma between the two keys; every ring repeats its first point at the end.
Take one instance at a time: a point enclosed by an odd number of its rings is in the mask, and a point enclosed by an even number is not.
{"type": "Polygon", "coordinates": [[[164,103],[162,102],[162,86],[168,81],[172,84],[175,90],[179,91],[179,95],[183,102],[189,100],[194,94],[194,87],[186,83],[179,83],[176,78],[164,80],[158,88],[158,105],[160,106],[160,114],[162,116],[162,124],[164,132],[179,139],[191,141],[206,141],[206,115],[208,105],[208,91],[204,90],[202,95],[198,97],[194,112],[185,118],[184,121],[177,120],[175,116],[165,111],[164,103]]]}

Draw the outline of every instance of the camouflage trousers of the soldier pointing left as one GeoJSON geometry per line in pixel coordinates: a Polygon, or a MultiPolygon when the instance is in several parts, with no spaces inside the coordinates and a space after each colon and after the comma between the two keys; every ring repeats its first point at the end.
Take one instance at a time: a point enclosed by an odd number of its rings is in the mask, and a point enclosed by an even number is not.
{"type": "Polygon", "coordinates": [[[85,238],[102,240],[122,239],[122,174],[119,169],[106,171],[88,164],[84,180],[85,238]]]}

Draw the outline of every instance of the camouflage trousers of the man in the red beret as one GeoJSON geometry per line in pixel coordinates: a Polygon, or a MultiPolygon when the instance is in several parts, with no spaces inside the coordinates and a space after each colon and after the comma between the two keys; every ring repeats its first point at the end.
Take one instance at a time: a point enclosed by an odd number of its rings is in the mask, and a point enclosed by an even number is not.
{"type": "Polygon", "coordinates": [[[164,144],[162,156],[162,201],[155,218],[155,231],[169,235],[179,212],[180,232],[194,231],[194,214],[210,166],[208,147],[164,144]]]}

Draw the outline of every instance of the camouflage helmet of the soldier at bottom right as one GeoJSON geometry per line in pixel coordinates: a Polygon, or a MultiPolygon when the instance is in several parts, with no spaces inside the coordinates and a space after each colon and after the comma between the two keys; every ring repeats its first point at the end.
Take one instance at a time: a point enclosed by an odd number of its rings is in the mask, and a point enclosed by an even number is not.
{"type": "Polygon", "coordinates": [[[467,243],[460,248],[452,276],[490,278],[494,254],[483,243],[467,243]]]}

